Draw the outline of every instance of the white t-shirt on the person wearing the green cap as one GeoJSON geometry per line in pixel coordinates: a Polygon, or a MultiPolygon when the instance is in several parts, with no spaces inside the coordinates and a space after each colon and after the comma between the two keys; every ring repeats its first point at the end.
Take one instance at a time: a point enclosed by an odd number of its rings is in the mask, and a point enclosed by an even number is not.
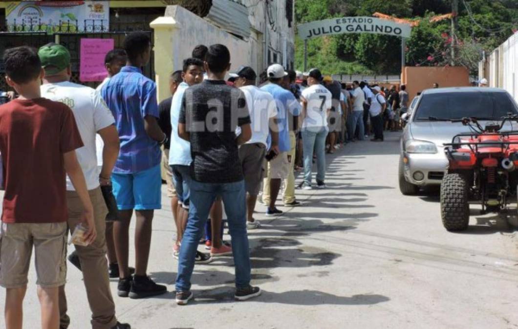
{"type": "MultiPolygon", "coordinates": [[[[72,109],[84,144],[76,150],[77,160],[83,169],[87,189],[96,189],[99,186],[99,171],[95,136],[99,130],[115,123],[110,109],[95,89],[68,81],[42,85],[41,97],[61,102],[72,109]]],[[[68,177],[66,189],[75,191],[68,177]]]]}

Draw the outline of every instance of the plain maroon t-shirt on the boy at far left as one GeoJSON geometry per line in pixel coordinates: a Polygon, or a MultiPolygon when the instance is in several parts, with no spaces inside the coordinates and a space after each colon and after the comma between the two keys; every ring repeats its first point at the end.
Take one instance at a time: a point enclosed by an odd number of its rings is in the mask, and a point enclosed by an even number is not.
{"type": "Polygon", "coordinates": [[[67,220],[63,153],[83,146],[71,109],[45,98],[0,106],[5,223],[67,220]]]}

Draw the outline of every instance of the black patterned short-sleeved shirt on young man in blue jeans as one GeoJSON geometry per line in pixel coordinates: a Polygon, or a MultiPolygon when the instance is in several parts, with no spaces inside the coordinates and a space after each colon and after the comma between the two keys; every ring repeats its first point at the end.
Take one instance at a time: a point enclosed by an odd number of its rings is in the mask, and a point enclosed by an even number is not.
{"type": "Polygon", "coordinates": [[[179,123],[191,135],[191,176],[202,183],[243,179],[236,127],[250,123],[244,93],[223,80],[205,80],[185,90],[179,123]]]}

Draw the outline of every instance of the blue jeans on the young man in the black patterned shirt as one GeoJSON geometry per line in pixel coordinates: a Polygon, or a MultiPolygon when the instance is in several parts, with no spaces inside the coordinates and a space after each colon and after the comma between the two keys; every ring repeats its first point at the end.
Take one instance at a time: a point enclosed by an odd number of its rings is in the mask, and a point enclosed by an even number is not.
{"type": "Polygon", "coordinates": [[[191,276],[199,239],[216,196],[221,195],[232,238],[232,253],[236,271],[236,288],[250,284],[250,250],[248,248],[246,192],[244,180],[235,183],[200,183],[191,181],[189,220],[183,233],[178,260],[176,291],[191,289],[191,276]]]}

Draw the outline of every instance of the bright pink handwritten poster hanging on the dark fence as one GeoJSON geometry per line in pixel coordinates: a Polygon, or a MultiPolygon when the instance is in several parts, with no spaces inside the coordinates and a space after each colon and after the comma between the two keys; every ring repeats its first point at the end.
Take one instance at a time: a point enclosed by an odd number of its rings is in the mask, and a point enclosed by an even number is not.
{"type": "Polygon", "coordinates": [[[103,81],[108,72],[104,57],[113,49],[113,39],[81,38],[79,80],[81,82],[103,81]]]}

